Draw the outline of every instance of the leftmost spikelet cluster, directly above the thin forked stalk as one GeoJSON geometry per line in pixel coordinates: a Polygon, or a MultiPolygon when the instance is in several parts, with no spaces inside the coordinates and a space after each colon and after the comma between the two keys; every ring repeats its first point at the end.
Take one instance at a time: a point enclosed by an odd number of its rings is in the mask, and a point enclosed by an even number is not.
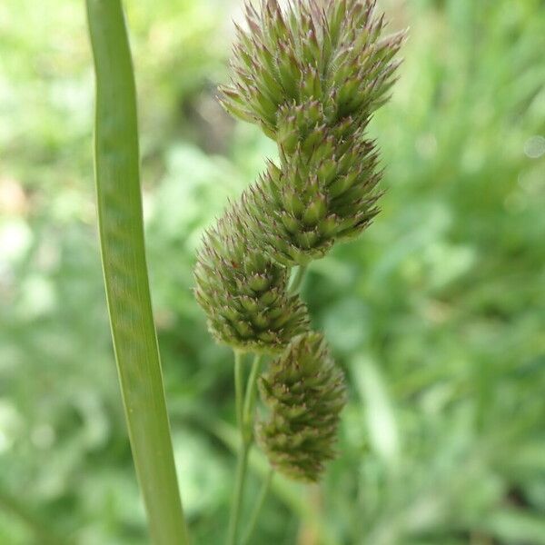
{"type": "Polygon", "coordinates": [[[197,254],[195,297],[218,342],[279,352],[308,330],[305,305],[287,293],[288,271],[248,245],[244,213],[232,206],[205,234],[197,254]]]}

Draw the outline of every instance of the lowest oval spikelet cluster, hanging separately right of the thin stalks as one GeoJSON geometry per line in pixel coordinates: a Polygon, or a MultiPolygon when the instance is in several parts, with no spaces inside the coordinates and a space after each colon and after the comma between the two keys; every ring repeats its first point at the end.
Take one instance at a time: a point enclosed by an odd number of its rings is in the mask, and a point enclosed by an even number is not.
{"type": "Polygon", "coordinates": [[[345,403],[342,372],[322,335],[292,340],[260,381],[271,411],[257,427],[258,441],[273,467],[299,481],[317,481],[334,457],[339,413],[345,403]]]}

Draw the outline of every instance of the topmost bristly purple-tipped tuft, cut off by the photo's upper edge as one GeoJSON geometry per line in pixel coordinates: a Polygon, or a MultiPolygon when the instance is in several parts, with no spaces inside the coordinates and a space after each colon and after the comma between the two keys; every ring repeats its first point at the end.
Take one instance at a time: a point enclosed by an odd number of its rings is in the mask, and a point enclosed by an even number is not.
{"type": "Polygon", "coordinates": [[[367,118],[387,100],[404,33],[381,38],[375,1],[246,4],[247,30],[237,26],[232,84],[220,88],[225,109],[258,124],[276,140],[284,104],[319,101],[334,124],[367,118]]]}

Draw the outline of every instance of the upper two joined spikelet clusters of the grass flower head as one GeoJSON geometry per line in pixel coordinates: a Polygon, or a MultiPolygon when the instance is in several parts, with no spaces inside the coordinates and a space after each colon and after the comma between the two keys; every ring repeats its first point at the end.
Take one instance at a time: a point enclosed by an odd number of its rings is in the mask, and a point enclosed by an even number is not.
{"type": "Polygon", "coordinates": [[[238,29],[232,84],[221,88],[231,114],[259,124],[278,144],[245,195],[253,243],[285,266],[325,255],[362,233],[378,213],[378,152],[365,135],[387,100],[404,33],[381,38],[371,0],[247,5],[238,29]]]}

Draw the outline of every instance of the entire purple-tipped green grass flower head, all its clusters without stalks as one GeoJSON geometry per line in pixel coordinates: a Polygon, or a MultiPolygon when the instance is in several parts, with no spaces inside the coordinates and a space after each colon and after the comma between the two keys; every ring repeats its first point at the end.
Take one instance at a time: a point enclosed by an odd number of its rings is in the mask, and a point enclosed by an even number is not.
{"type": "Polygon", "coordinates": [[[278,354],[263,378],[271,419],[259,437],[272,464],[315,481],[342,408],[342,375],[290,269],[362,233],[378,213],[379,154],[367,126],[395,81],[403,34],[382,37],[374,0],[246,5],[223,107],[277,144],[269,162],[203,239],[195,294],[217,341],[278,354]],[[283,351],[283,352],[282,352],[283,351]]]}

